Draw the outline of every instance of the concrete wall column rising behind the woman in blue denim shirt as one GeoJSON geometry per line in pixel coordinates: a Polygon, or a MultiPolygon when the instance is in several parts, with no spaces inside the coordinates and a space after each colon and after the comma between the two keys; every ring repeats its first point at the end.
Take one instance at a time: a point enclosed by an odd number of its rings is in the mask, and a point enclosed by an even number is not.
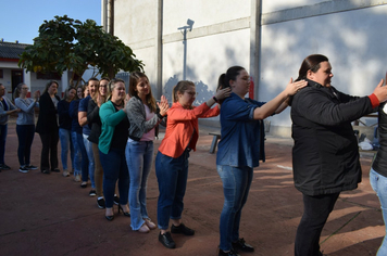
{"type": "Polygon", "coordinates": [[[250,16],[250,76],[254,81],[253,99],[258,100],[260,82],[260,50],[261,50],[261,15],[262,0],[251,0],[250,16]]]}

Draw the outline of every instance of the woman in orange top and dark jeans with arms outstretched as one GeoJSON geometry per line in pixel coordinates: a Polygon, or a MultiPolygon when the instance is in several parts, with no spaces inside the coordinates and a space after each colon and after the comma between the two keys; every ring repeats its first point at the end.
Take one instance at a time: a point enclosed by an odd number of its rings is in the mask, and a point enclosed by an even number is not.
{"type": "Polygon", "coordinates": [[[173,89],[173,105],[167,113],[165,137],[155,157],[155,175],[159,182],[158,226],[159,241],[167,248],[175,248],[172,233],[192,235],[195,231],[182,223],[188,177],[188,157],[196,151],[199,138],[198,118],[213,117],[220,114],[220,107],[210,108],[219,100],[230,94],[229,88],[219,90],[214,97],[199,106],[192,106],[196,99],[195,84],[179,81],[173,89]],[[171,232],[168,231],[172,219],[171,232]]]}

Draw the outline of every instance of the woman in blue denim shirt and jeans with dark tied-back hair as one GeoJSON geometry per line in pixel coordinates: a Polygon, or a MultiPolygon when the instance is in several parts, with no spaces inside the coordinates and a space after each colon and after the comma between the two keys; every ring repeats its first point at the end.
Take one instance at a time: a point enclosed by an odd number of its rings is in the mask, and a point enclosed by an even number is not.
{"type": "Polygon", "coordinates": [[[254,248],[239,238],[241,209],[247,201],[253,168],[264,161],[262,120],[280,113],[288,99],[307,86],[305,81],[290,82],[270,102],[258,102],[245,95],[249,92],[250,76],[241,66],[228,68],[221,75],[221,88],[232,88],[232,94],[222,103],[221,135],[216,168],[223,182],[224,205],[221,215],[221,244],[219,255],[238,255],[237,251],[254,248]]]}

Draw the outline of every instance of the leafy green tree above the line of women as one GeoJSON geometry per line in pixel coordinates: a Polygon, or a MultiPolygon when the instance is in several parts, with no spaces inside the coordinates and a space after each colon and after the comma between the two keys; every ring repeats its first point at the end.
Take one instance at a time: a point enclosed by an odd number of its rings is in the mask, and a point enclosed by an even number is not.
{"type": "MultiPolygon", "coordinates": [[[[64,16],[54,16],[39,27],[34,44],[25,48],[18,66],[27,72],[73,71],[82,79],[89,65],[98,69],[93,76],[113,78],[118,71],[142,71],[143,63],[135,59],[132,49],[117,37],[107,34],[92,20],[85,23],[64,16]]],[[[77,84],[79,82],[79,79],[77,84]]]]}

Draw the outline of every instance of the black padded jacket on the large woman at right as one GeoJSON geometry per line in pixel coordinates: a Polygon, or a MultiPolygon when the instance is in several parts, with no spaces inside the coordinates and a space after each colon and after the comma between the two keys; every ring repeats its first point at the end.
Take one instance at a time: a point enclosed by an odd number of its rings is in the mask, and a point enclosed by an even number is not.
{"type": "Polygon", "coordinates": [[[308,80],[291,103],[294,179],[307,195],[337,193],[361,181],[351,121],[373,112],[369,97],[351,97],[308,80]]]}

